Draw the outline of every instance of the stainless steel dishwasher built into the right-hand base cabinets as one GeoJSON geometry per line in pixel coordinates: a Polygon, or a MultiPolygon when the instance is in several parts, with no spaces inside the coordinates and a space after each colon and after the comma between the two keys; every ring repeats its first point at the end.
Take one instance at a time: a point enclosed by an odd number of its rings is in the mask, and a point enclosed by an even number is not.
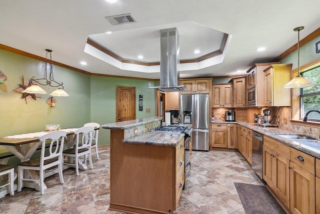
{"type": "Polygon", "coordinates": [[[263,135],[252,132],[252,169],[262,179],[263,135]]]}

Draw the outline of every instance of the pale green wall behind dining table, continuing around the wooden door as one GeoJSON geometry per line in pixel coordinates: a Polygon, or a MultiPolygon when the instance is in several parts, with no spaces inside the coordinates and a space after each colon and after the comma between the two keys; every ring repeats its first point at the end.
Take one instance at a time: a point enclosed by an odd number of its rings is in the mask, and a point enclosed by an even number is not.
{"type": "MultiPolygon", "coordinates": [[[[87,122],[113,123],[116,85],[136,87],[136,118],[155,115],[155,90],[148,89],[153,81],[91,76],[53,65],[54,80],[63,82],[70,96],[54,97],[56,106],[51,108],[46,99],[56,88],[42,86],[48,94],[30,99],[28,104],[21,93],[13,91],[23,84],[23,76],[42,78],[44,62],[0,49],[0,71],[7,77],[0,84],[0,136],[42,131],[51,123],[59,123],[62,128],[81,127],[87,122]],[[143,111],[138,111],[139,93],[144,95],[143,111]],[[150,108],[150,113],[145,108],[150,108]]],[[[108,130],[100,129],[99,145],[104,144],[109,144],[108,130]]]]}

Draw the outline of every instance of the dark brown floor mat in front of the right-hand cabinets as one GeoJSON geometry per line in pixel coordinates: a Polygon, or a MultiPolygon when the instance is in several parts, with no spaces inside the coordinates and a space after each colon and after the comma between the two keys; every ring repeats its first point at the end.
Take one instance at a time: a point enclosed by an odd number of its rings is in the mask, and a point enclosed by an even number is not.
{"type": "Polygon", "coordinates": [[[246,214],[285,213],[265,186],[234,182],[246,214]]]}

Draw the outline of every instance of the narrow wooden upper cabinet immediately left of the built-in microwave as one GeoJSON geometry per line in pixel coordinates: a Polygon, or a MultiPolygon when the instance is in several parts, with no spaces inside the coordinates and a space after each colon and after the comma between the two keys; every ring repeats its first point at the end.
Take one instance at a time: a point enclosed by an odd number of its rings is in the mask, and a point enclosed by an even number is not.
{"type": "Polygon", "coordinates": [[[246,106],[245,77],[233,79],[233,108],[246,106]]]}

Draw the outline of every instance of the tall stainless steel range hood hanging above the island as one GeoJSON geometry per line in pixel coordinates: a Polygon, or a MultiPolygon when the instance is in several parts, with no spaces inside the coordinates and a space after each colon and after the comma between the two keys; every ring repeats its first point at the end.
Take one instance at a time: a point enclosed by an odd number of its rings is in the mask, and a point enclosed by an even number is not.
{"type": "Polygon", "coordinates": [[[179,34],[176,28],[160,30],[160,91],[183,91],[179,84],[179,34]]]}

